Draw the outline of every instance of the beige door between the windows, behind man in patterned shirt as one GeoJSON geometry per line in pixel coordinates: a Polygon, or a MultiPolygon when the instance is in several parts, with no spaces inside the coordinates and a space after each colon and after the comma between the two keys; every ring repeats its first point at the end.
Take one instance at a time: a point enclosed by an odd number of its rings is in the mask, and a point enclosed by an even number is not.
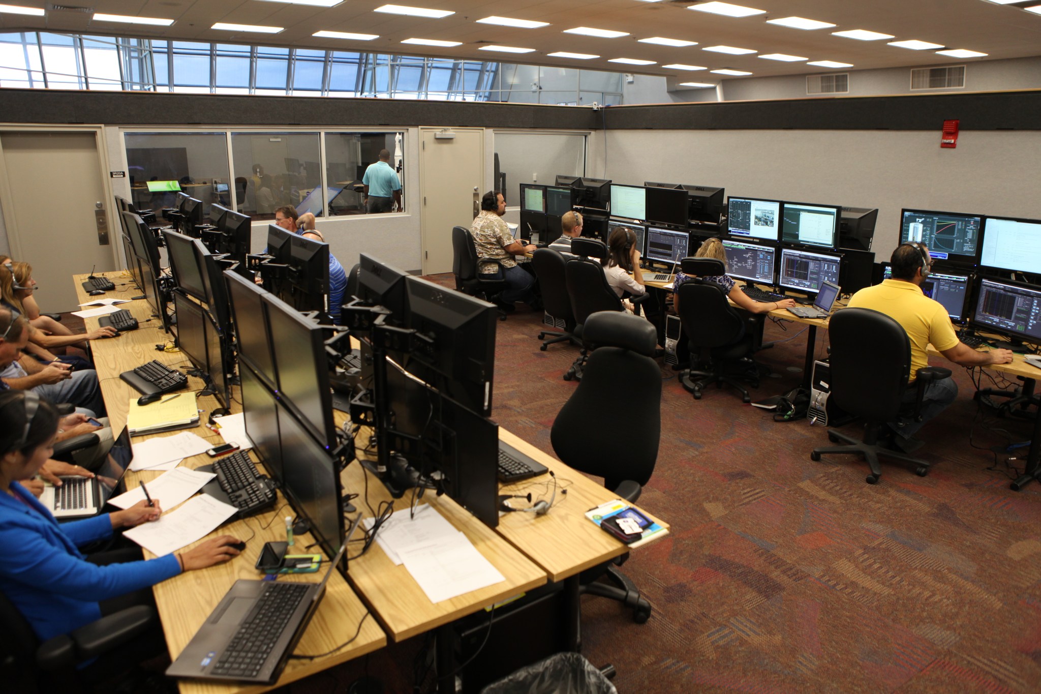
{"type": "Polygon", "coordinates": [[[421,129],[420,189],[423,199],[423,274],[452,272],[452,227],[465,227],[480,208],[484,182],[484,131],[421,129]]]}

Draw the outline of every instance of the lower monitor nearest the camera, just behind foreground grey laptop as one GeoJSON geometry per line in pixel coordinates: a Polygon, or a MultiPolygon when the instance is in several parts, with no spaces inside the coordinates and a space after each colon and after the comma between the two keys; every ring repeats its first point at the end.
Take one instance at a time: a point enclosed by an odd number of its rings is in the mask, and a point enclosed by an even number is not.
{"type": "Polygon", "coordinates": [[[306,422],[279,402],[278,436],[282,448],[282,492],[328,557],[344,544],[344,488],[339,463],[307,433],[306,422]]]}

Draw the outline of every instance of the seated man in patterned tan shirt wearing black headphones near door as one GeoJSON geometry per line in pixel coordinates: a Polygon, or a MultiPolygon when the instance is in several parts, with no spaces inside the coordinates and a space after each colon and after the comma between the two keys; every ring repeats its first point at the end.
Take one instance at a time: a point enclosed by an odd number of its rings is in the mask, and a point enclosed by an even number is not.
{"type": "Polygon", "coordinates": [[[506,198],[501,192],[489,190],[481,198],[481,213],[474,217],[469,231],[477,249],[478,272],[482,275],[499,275],[499,279],[506,280],[506,289],[498,299],[501,307],[512,310],[515,302],[524,302],[529,306],[535,302],[535,292],[532,290],[535,276],[519,267],[513,256],[534,253],[537,247],[531,243],[525,246],[513,238],[503,221],[503,214],[506,214],[506,198]],[[501,262],[504,275],[500,274],[496,263],[484,262],[487,260],[501,262]]]}

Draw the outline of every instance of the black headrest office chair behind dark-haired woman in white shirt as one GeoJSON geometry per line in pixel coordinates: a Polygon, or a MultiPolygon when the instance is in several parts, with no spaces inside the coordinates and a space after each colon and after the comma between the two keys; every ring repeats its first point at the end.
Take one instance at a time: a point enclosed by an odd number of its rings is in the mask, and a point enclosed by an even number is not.
{"type": "Polygon", "coordinates": [[[604,241],[576,238],[572,241],[572,253],[577,257],[564,263],[564,282],[567,285],[567,297],[575,316],[575,329],[572,335],[582,341],[582,354],[564,374],[564,381],[573,379],[581,381],[583,366],[590,349],[588,341],[583,337],[583,325],[586,318],[599,311],[625,312],[625,307],[614,293],[614,289],[607,283],[604,266],[600,263],[600,259],[607,256],[604,241]]]}

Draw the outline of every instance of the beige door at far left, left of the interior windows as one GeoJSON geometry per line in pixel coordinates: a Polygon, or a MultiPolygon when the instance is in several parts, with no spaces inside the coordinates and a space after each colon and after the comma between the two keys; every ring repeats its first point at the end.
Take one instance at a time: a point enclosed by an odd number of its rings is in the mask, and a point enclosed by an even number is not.
{"type": "Polygon", "coordinates": [[[72,275],[116,269],[94,132],[0,134],[0,192],[10,255],[32,265],[41,310],[77,310],[72,275]],[[99,226],[98,219],[101,219],[99,226]],[[100,231],[107,232],[102,237],[100,231]]]}

